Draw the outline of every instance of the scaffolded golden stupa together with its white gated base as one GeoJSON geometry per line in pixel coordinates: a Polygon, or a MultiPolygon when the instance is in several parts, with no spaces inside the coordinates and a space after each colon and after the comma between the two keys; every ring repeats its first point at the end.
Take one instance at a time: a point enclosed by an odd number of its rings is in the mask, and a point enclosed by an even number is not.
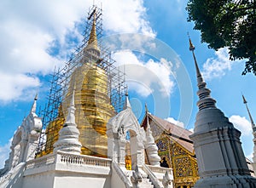
{"type": "Polygon", "coordinates": [[[0,187],[173,187],[150,126],[142,128],[131,110],[122,72],[97,43],[101,16],[101,9],[90,9],[88,35],[54,73],[42,119],[35,98],[0,171],[0,187]]]}

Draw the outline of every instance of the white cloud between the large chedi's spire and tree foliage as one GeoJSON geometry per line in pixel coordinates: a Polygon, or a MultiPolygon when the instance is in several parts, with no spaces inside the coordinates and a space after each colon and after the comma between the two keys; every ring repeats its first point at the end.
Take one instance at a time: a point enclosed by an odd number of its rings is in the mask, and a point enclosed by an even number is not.
{"type": "Polygon", "coordinates": [[[215,52],[216,58],[209,58],[203,65],[203,77],[211,80],[216,77],[223,77],[226,71],[230,71],[234,63],[238,60],[231,61],[228,48],[220,48],[215,52]]]}

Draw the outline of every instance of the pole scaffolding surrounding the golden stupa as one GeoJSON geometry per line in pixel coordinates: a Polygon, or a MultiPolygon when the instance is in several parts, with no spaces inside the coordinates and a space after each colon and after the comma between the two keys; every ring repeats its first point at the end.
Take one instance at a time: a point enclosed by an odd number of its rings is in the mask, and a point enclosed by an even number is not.
{"type": "MultiPolygon", "coordinates": [[[[49,90],[48,103],[45,105],[44,111],[42,111],[43,128],[38,142],[36,157],[49,154],[54,149],[53,144],[58,139],[59,131],[67,117],[67,107],[69,105],[68,99],[71,97],[71,84],[73,82],[74,71],[79,72],[80,67],[84,67],[84,60],[88,60],[84,57],[84,48],[88,45],[90,31],[92,30],[94,21],[96,24],[96,37],[98,39],[102,37],[102,9],[94,5],[88,12],[82,44],[75,53],[73,53],[71,59],[66,63],[66,65],[61,69],[55,70],[51,75],[52,79],[50,81],[51,86],[49,90]],[[49,131],[51,131],[50,138],[49,131]]],[[[114,66],[115,61],[111,58],[111,52],[108,51],[107,48],[103,47],[101,43],[98,43],[97,46],[101,52],[99,60],[95,62],[95,66],[92,66],[90,62],[85,62],[85,64],[89,69],[100,68],[100,70],[104,71],[104,77],[99,77],[98,75],[92,75],[91,77],[95,77],[93,79],[97,80],[99,83],[104,83],[105,80],[101,79],[105,79],[107,77],[107,88],[102,89],[107,89],[109,103],[113,106],[113,111],[116,114],[123,110],[125,98],[125,73],[123,70],[119,70],[118,67],[114,66]]],[[[76,82],[79,81],[76,80],[76,82]]],[[[84,84],[84,80],[82,80],[81,83],[84,84]]],[[[95,97],[102,98],[102,95],[95,94],[95,97]]],[[[96,99],[99,103],[96,105],[101,106],[101,109],[104,108],[101,104],[102,100],[106,99],[96,99]]],[[[91,106],[88,106],[88,108],[90,107],[91,106]]],[[[83,106],[83,108],[86,108],[86,106],[83,106]]],[[[77,108],[76,112],[78,109],[79,108],[77,108]]],[[[103,110],[104,109],[102,109],[102,111],[103,110]]],[[[109,109],[105,110],[108,111],[109,109]]],[[[95,121],[97,121],[97,119],[95,119],[95,121]]],[[[90,139],[93,140],[93,138],[90,139]]],[[[99,145],[101,140],[94,140],[94,142],[99,145]]]]}

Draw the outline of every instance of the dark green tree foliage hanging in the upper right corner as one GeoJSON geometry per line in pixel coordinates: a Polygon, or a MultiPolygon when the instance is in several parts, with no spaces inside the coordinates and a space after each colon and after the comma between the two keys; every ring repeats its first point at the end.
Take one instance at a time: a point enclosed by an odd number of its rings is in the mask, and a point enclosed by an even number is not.
{"type": "Polygon", "coordinates": [[[201,42],[229,48],[230,60],[247,59],[242,74],[256,75],[256,0],[189,0],[186,9],[201,42]]]}

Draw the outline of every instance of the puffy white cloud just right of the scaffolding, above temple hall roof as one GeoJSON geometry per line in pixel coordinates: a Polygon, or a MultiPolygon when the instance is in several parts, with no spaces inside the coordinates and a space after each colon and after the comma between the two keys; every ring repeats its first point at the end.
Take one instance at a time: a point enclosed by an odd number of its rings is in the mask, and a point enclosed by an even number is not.
{"type": "Polygon", "coordinates": [[[156,62],[148,60],[143,62],[130,50],[122,50],[112,55],[117,66],[125,69],[126,81],[129,88],[138,94],[147,97],[157,88],[164,96],[169,96],[175,83],[171,79],[172,63],[165,59],[156,62]],[[125,65],[125,66],[124,66],[125,65]]]}

